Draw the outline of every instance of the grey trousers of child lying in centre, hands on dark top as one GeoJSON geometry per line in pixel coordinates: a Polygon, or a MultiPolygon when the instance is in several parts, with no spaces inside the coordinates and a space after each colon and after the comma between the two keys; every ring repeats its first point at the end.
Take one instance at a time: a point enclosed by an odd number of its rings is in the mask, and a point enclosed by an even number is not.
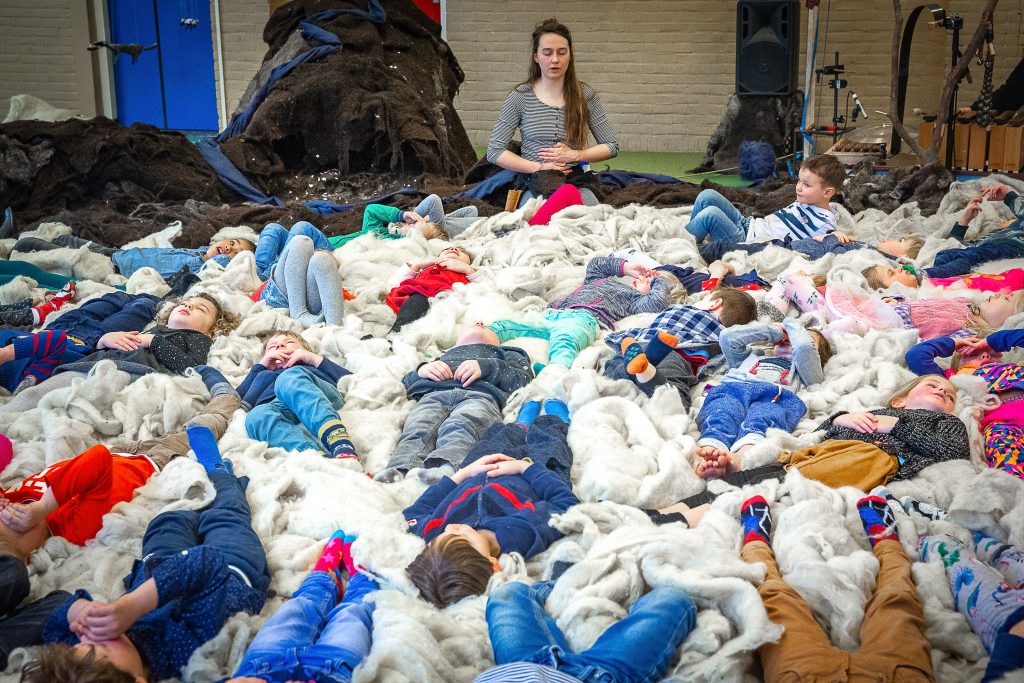
{"type": "Polygon", "coordinates": [[[446,389],[427,394],[406,418],[387,467],[459,467],[483,432],[501,422],[495,399],[479,391],[446,389]]]}

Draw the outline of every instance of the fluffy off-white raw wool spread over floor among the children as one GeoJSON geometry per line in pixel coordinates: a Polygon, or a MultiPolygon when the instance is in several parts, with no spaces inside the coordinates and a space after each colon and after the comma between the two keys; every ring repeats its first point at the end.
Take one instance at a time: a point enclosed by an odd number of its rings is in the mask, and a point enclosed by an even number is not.
{"type": "MultiPolygon", "coordinates": [[[[1001,180],[1024,189],[1019,182],[1001,180]]],[[[939,213],[930,218],[909,205],[889,216],[878,211],[857,217],[844,214],[841,229],[865,241],[905,233],[926,238],[920,260],[927,264],[939,249],[955,246],[943,236],[978,186],[978,182],[954,186],[939,213]]],[[[994,224],[1005,213],[1000,206],[986,204],[978,223],[994,224]]],[[[442,243],[428,243],[418,236],[400,241],[367,237],[335,252],[345,287],[357,298],[346,304],[344,325],[310,329],[304,336],[353,372],[340,385],[345,396],[341,418],[365,470],[373,473],[384,466],[413,407],[406,398],[401,377],[423,358],[436,357],[451,345],[460,327],[542,310],[548,301],[582,282],[584,265],[592,256],[623,247],[639,247],[664,263],[702,267],[693,240],[684,229],[688,219],[689,209],[641,206],[570,208],[550,225],[532,228],[521,221],[520,212],[484,219],[458,241],[484,275],[438,296],[424,318],[403,329],[393,348],[382,338],[360,339],[367,334],[383,335],[393,321],[383,303],[384,283],[406,261],[436,254],[442,243]]],[[[166,239],[166,233],[161,237],[166,239]]],[[[865,265],[881,262],[877,255],[855,252],[812,263],[775,248],[732,257],[741,270],[757,267],[768,280],[793,268],[827,272],[835,281],[852,283],[861,282],[858,273],[865,265]]],[[[84,262],[82,267],[86,267],[84,262]]],[[[270,331],[300,329],[285,311],[248,299],[245,292],[257,284],[252,255],[243,254],[226,268],[211,266],[200,286],[229,311],[244,316],[237,331],[216,340],[210,355],[211,365],[234,383],[259,359],[260,343],[270,331]]],[[[12,284],[7,287],[8,296],[24,296],[32,285],[12,284]]],[[[129,280],[127,288],[156,294],[166,291],[156,273],[145,270],[129,280]]],[[[90,292],[104,290],[95,286],[90,292]]],[[[4,295],[0,290],[0,296],[4,295]]],[[[622,325],[650,317],[636,316],[622,325]]],[[[883,404],[894,388],[911,378],[902,358],[914,342],[912,331],[872,332],[863,338],[838,336],[837,354],[825,369],[825,382],[801,392],[808,415],[796,433],[770,433],[748,465],[816,441],[815,427],[838,410],[883,404]]],[[[536,359],[545,359],[543,343],[527,340],[523,346],[536,359]]],[[[605,379],[597,372],[609,354],[599,340],[580,355],[571,370],[545,369],[509,401],[506,420],[514,419],[519,405],[530,398],[554,395],[568,402],[572,478],[584,504],[554,520],[565,539],[547,552],[528,562],[518,555],[503,556],[503,571],[492,586],[541,580],[549,575],[554,561],[574,561],[547,608],[577,648],[590,645],[621,618],[647,587],[682,588],[696,601],[699,614],[669,680],[753,680],[757,648],[780,633],[780,627],[768,621],[757,593],[763,566],[746,564],[738,556],[738,507],[754,487],[720,497],[695,529],[652,525],[637,507],[665,506],[703,488],[693,473],[698,435],[694,416],[702,387],[694,389],[689,412],[682,410],[678,396],[668,388],[647,398],[632,384],[605,379]]],[[[2,482],[9,485],[96,442],[176,429],[206,399],[206,390],[195,377],[155,375],[127,384],[113,366],[100,365],[91,376],[48,392],[31,410],[0,410],[0,431],[12,439],[16,453],[2,482]]],[[[962,382],[957,411],[975,432],[981,399],[977,382],[962,382]]],[[[356,681],[470,681],[493,665],[483,617],[485,599],[466,600],[442,612],[416,598],[404,574],[406,565],[423,545],[406,531],[401,516],[401,509],[423,490],[416,477],[382,484],[354,467],[313,453],[267,447],[246,437],[241,413],[220,445],[236,471],[251,478],[248,496],[253,526],[266,548],[272,596],[260,615],[232,617],[196,653],[184,680],[211,681],[230,674],[255,630],[298,587],[324,540],[337,528],[359,535],[356,559],[387,589],[374,598],[374,644],[356,670],[356,681]]],[[[892,488],[897,496],[912,495],[949,509],[954,521],[1024,546],[1024,482],[982,467],[978,437],[973,455],[975,463],[938,465],[892,488]]],[[[854,505],[862,494],[852,488],[829,489],[799,474],[756,488],[773,503],[773,546],[783,575],[806,598],[833,642],[855,649],[863,607],[878,571],[854,505]]],[[[162,510],[199,508],[212,495],[198,464],[184,459],[172,462],[133,501],[117,506],[86,548],[49,540],[32,560],[33,596],[55,588],[81,587],[98,598],[117,597],[121,577],[139,552],[146,523],[162,510]]],[[[950,522],[931,523],[920,517],[900,521],[901,539],[912,558],[918,558],[919,535],[937,531],[965,533],[950,522]]],[[[915,561],[914,577],[926,605],[937,678],[977,679],[985,666],[985,651],[967,621],[953,609],[941,567],[915,561]]],[[[15,656],[8,676],[16,674],[23,661],[15,656]]]]}

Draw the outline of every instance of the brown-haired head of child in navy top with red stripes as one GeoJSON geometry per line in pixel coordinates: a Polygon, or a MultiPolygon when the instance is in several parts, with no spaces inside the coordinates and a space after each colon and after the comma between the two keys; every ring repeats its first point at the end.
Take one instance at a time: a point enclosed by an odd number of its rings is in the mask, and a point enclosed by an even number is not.
{"type": "Polygon", "coordinates": [[[500,554],[493,531],[449,524],[406,571],[424,599],[443,608],[465,597],[483,594],[490,577],[501,570],[500,554]]]}

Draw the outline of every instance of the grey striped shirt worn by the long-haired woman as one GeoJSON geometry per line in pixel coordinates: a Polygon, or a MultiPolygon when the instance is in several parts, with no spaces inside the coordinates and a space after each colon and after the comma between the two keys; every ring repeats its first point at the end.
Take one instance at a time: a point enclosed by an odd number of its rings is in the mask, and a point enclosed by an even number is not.
{"type": "MultiPolygon", "coordinates": [[[[607,145],[611,150],[611,156],[614,157],[618,154],[618,141],[604,113],[601,99],[586,83],[583,84],[583,93],[590,111],[587,121],[590,132],[599,144],[607,145]]],[[[528,83],[514,88],[505,98],[505,105],[490,132],[490,140],[487,141],[487,161],[492,164],[497,163],[498,157],[508,147],[517,129],[522,135],[520,156],[540,163],[541,150],[554,146],[565,139],[565,109],[542,102],[528,83]]]]}

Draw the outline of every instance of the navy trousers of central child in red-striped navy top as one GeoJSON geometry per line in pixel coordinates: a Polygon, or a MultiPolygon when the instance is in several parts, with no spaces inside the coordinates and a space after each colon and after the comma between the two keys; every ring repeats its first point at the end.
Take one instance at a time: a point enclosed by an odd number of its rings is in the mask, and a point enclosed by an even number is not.
{"type": "Polygon", "coordinates": [[[499,422],[487,429],[460,467],[471,465],[493,453],[504,453],[516,460],[529,458],[571,486],[569,470],[572,469],[572,451],[565,440],[568,431],[569,426],[553,415],[537,418],[528,430],[514,422],[499,422]]]}

